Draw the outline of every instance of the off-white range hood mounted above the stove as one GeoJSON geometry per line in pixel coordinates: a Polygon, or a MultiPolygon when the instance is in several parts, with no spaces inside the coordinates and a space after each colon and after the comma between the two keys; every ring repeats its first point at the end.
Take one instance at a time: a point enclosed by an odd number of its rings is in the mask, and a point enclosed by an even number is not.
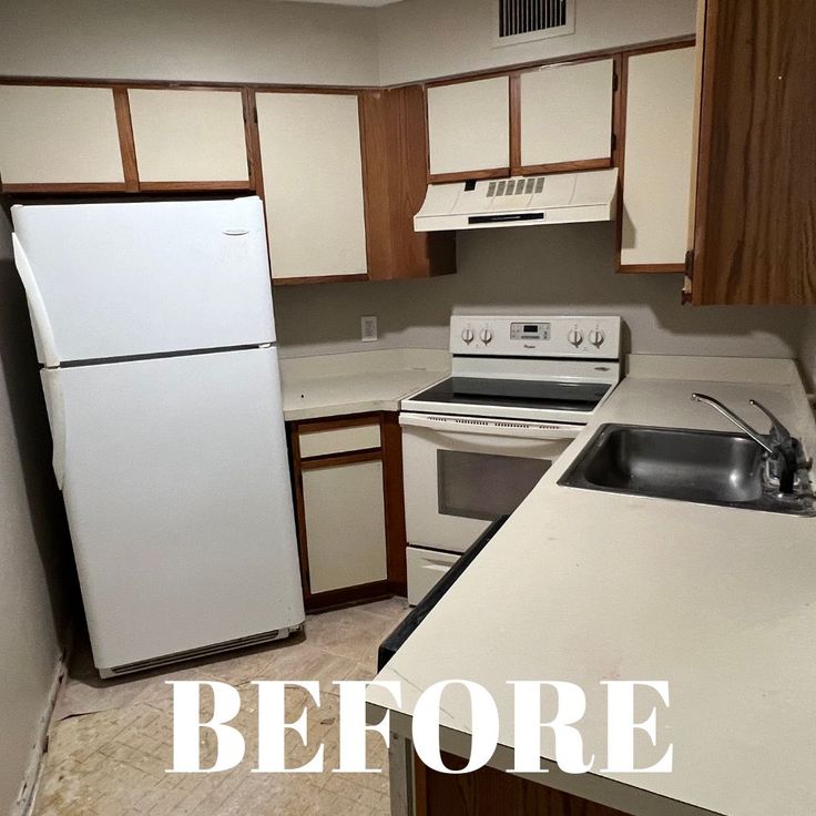
{"type": "Polygon", "coordinates": [[[618,169],[431,184],[414,216],[418,233],[611,221],[618,169]]]}

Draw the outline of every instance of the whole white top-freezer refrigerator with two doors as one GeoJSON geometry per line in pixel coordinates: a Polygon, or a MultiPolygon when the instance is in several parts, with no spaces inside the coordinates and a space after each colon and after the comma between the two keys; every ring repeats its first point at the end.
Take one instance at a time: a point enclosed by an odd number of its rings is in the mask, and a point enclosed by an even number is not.
{"type": "Polygon", "coordinates": [[[261,201],[11,212],[102,676],[299,629],[261,201]]]}

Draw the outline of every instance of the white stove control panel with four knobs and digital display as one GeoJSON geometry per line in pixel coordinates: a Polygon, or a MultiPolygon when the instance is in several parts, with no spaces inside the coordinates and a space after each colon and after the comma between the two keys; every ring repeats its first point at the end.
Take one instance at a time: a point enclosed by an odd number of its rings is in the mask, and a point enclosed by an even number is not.
{"type": "Polygon", "coordinates": [[[618,359],[621,318],[453,315],[450,350],[490,357],[618,359]]]}

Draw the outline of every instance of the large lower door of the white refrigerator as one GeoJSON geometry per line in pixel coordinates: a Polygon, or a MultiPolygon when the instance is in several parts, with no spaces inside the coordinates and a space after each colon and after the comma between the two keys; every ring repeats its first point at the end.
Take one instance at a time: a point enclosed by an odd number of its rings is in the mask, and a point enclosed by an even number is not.
{"type": "Polygon", "coordinates": [[[303,623],[275,348],[43,380],[52,415],[62,401],[63,493],[103,675],[303,623]]]}

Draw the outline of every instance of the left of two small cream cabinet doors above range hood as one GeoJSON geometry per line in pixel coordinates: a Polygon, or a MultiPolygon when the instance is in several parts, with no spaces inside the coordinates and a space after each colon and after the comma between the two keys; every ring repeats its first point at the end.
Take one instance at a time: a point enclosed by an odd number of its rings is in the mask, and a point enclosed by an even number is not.
{"type": "Polygon", "coordinates": [[[509,167],[509,78],[429,88],[428,139],[434,175],[509,167]]]}

